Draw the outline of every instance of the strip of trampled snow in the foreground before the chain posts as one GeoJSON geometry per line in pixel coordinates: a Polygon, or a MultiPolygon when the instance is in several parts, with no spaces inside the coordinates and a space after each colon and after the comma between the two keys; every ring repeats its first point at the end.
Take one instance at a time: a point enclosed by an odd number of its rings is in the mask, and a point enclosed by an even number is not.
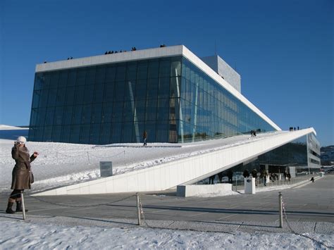
{"type": "MultiPolygon", "coordinates": [[[[194,232],[118,227],[83,227],[1,219],[1,249],[326,249],[288,233],[194,232]]],[[[333,246],[333,235],[306,234],[333,246]]]]}

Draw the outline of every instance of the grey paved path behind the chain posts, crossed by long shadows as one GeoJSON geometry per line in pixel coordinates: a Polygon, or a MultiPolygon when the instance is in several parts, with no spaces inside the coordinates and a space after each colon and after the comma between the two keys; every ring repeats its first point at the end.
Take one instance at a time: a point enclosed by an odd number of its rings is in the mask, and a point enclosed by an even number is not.
{"type": "MultiPolygon", "coordinates": [[[[334,175],[326,175],[316,182],[308,182],[302,187],[282,190],[287,218],[294,230],[299,232],[333,233],[334,175]]],[[[81,206],[70,208],[39,201],[26,196],[27,218],[30,220],[61,220],[73,225],[116,223],[135,225],[137,222],[135,196],[85,195],[85,196],[42,196],[38,199],[81,206]],[[123,201],[118,201],[124,199],[123,201]],[[118,201],[114,204],[108,204],[118,201]],[[92,206],[95,204],[108,204],[92,206]],[[61,217],[62,216],[62,217],[61,217]],[[56,219],[58,218],[58,219],[56,219]]],[[[1,194],[1,208],[6,207],[6,196],[1,194]]],[[[221,197],[181,198],[169,194],[141,195],[144,216],[154,227],[213,230],[260,230],[282,232],[278,229],[278,191],[259,192],[254,195],[232,195],[221,197]]],[[[0,218],[21,218],[21,213],[7,215],[0,211],[0,218]]],[[[285,226],[283,232],[289,229],[285,226]],[[285,231],[284,231],[285,230],[285,231]]]]}

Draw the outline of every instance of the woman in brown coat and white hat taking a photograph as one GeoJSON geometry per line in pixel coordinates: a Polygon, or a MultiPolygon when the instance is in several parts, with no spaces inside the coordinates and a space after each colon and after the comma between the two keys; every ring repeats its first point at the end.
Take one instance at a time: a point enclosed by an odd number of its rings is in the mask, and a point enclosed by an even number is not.
{"type": "Polygon", "coordinates": [[[11,181],[11,189],[13,189],[13,192],[11,192],[9,196],[6,213],[15,213],[15,211],[12,210],[15,201],[16,212],[22,212],[22,198],[20,192],[24,189],[30,189],[31,183],[33,182],[30,163],[35,160],[38,153],[34,152],[34,154],[29,156],[25,142],[27,142],[25,137],[18,137],[11,149],[11,157],[13,157],[16,164],[13,168],[11,181]]]}

